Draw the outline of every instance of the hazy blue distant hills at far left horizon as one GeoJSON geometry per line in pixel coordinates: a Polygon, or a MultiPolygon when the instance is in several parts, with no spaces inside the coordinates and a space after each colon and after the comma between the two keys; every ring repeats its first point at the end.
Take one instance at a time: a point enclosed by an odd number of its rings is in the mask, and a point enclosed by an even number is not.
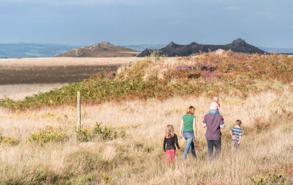
{"type": "Polygon", "coordinates": [[[64,44],[13,43],[0,44],[0,58],[50,57],[80,46],[64,44]]]}

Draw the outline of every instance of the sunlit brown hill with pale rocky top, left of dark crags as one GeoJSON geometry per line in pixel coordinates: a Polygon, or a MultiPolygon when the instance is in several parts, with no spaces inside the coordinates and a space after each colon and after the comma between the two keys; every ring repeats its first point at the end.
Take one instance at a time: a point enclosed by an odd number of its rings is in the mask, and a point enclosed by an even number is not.
{"type": "Polygon", "coordinates": [[[139,51],[123,46],[114,46],[109,42],[98,42],[94,45],[74,48],[60,57],[129,57],[136,56],[139,51]]]}

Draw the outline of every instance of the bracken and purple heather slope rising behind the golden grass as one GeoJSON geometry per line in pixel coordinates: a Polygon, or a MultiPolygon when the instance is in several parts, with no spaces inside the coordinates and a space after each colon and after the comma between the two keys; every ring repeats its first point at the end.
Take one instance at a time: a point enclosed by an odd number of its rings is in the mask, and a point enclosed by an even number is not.
{"type": "Polygon", "coordinates": [[[98,73],[83,82],[64,85],[23,101],[9,98],[0,100],[0,106],[14,109],[37,108],[76,102],[76,92],[86,103],[121,101],[133,98],[168,98],[174,95],[219,92],[238,94],[245,98],[248,92],[270,89],[260,87],[265,81],[275,80],[290,84],[293,58],[285,55],[259,55],[225,51],[221,55],[202,53],[183,58],[157,59],[150,57],[122,66],[117,72],[98,73]]]}

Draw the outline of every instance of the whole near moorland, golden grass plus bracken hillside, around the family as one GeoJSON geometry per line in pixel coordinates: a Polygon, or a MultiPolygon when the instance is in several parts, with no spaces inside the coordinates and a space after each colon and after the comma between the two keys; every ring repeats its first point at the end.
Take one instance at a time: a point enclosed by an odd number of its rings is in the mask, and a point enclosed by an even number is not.
{"type": "Polygon", "coordinates": [[[229,51],[152,56],[21,101],[1,99],[0,184],[292,184],[292,62],[229,51]],[[222,153],[209,161],[200,126],[215,95],[226,128],[222,153]],[[182,162],[177,151],[167,166],[164,129],[172,124],[179,134],[190,105],[198,159],[182,162]],[[243,139],[231,155],[237,119],[243,139]]]}

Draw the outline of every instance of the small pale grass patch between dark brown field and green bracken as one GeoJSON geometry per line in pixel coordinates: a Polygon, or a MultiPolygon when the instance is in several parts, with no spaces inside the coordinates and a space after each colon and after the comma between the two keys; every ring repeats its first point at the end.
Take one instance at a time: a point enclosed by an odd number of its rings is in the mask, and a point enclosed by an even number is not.
{"type": "Polygon", "coordinates": [[[10,98],[12,100],[22,100],[26,96],[32,96],[39,92],[50,91],[54,88],[60,88],[64,84],[52,83],[52,84],[7,84],[0,85],[0,98],[10,98]]]}

